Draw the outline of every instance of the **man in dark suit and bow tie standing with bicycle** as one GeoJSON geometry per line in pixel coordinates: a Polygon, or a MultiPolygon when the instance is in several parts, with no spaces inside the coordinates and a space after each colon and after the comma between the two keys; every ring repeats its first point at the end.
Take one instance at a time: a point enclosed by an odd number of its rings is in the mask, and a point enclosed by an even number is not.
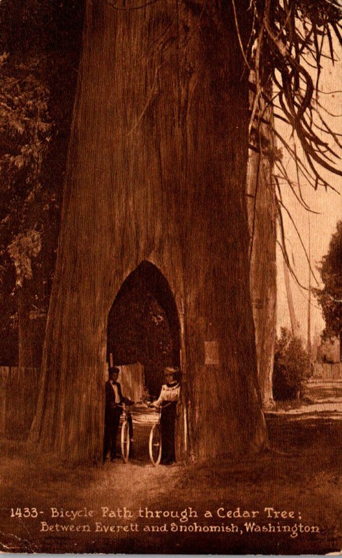
{"type": "MultiPolygon", "coordinates": [[[[115,461],[117,433],[119,431],[120,416],[123,405],[133,405],[133,401],[125,398],[121,392],[121,385],[117,381],[119,368],[110,367],[109,379],[105,382],[105,436],[103,439],[103,462],[107,458],[110,448],[110,460],[115,461]]],[[[132,425],[130,424],[130,437],[132,437],[132,425]]]]}

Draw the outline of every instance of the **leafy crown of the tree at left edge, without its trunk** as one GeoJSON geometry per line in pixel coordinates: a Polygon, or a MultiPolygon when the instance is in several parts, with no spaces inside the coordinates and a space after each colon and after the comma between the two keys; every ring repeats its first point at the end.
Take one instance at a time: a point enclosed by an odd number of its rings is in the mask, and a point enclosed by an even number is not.
{"type": "MultiPolygon", "coordinates": [[[[47,195],[40,183],[43,160],[51,140],[52,123],[47,110],[49,91],[36,75],[36,59],[9,66],[8,54],[0,56],[0,178],[3,205],[0,212],[2,250],[15,262],[17,286],[32,278],[29,248],[38,221],[43,225],[42,204],[47,195]]],[[[10,262],[7,259],[7,264],[10,262]]]]}

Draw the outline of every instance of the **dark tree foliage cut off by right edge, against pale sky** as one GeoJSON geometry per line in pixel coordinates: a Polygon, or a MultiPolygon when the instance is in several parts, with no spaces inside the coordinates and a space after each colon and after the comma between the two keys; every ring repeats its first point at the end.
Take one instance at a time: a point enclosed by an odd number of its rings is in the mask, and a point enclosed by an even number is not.
{"type": "Polygon", "coordinates": [[[322,259],[320,276],[324,287],[315,289],[325,318],[324,338],[342,335],[342,220],[336,225],[327,255],[322,259]]]}

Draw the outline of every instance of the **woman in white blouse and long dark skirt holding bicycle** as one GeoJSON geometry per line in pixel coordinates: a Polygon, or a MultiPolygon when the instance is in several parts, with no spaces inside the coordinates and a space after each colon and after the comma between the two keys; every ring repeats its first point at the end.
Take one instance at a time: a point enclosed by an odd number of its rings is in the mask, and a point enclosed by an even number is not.
{"type": "Polygon", "coordinates": [[[164,370],[164,377],[165,384],[161,388],[161,395],[154,401],[154,405],[161,407],[161,463],[171,465],[176,458],[174,428],[180,390],[179,368],[168,366],[164,370]]]}

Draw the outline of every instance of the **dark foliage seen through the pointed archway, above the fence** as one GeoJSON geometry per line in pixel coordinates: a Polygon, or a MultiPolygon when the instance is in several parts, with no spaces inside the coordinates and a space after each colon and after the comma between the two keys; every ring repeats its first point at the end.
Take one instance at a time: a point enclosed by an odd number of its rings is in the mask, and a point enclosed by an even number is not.
{"type": "Polygon", "coordinates": [[[168,281],[144,260],[121,285],[108,315],[107,362],[140,362],[144,386],[158,396],[165,366],[180,364],[180,324],[168,281]]]}

